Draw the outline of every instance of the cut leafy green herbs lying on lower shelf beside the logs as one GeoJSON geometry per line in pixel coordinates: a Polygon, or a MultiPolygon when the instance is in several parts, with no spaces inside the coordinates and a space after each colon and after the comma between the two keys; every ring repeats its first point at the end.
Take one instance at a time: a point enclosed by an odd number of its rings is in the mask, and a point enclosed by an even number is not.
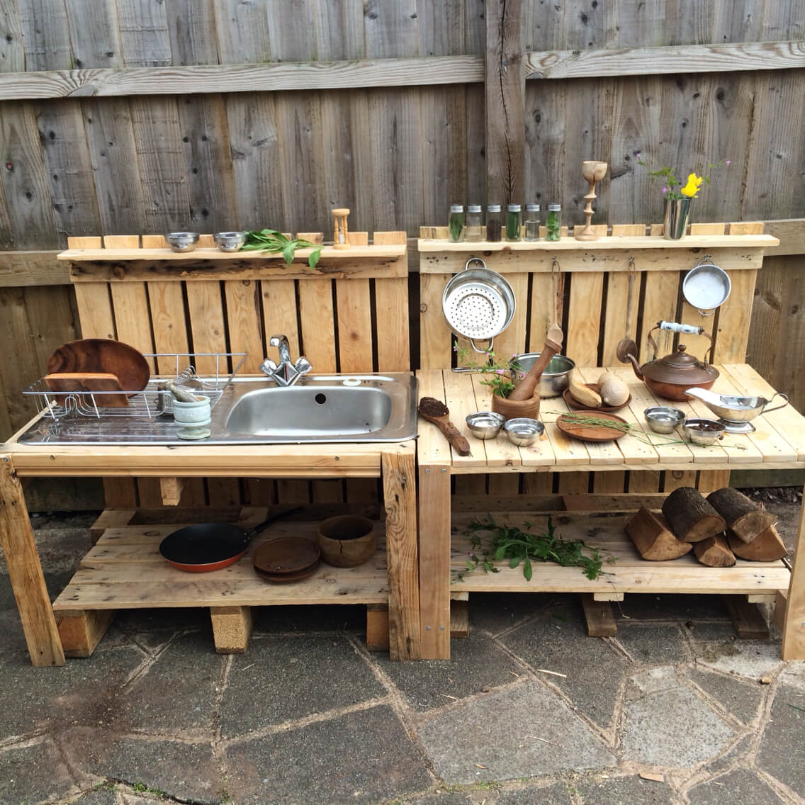
{"type": "MultiPolygon", "coordinates": [[[[499,526],[491,514],[485,520],[476,520],[467,526],[470,543],[477,553],[470,555],[466,561],[467,569],[454,571],[454,580],[460,581],[468,572],[483,568],[485,573],[498,573],[493,563],[509,559],[509,567],[517,568],[522,563],[522,575],[526,581],[531,580],[532,562],[555,562],[563,568],[580,568],[584,576],[596,580],[604,573],[601,570],[604,559],[598,549],[590,547],[580,539],[562,539],[555,535],[553,520],[548,516],[544,534],[534,534],[530,522],[524,522],[526,530],[516,527],[499,526]],[[481,536],[489,534],[490,536],[481,536]],[[480,554],[480,555],[479,555],[480,554]]],[[[614,564],[613,556],[606,560],[614,564]]]]}

